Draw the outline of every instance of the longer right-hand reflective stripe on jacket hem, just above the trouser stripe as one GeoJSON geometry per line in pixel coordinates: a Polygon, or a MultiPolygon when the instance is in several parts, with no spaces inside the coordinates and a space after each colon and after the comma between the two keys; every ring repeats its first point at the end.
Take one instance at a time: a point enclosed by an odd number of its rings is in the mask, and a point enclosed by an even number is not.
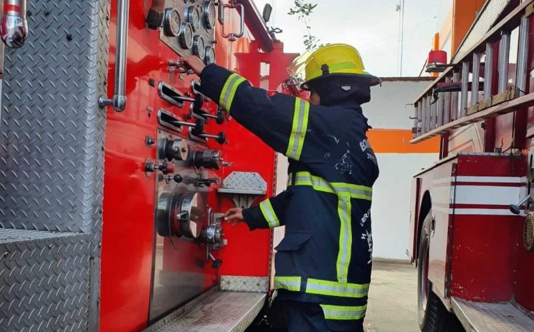
{"type": "Polygon", "coordinates": [[[369,283],[338,283],[318,279],[308,279],[307,294],[327,295],[332,297],[366,297],[369,292],[369,283]]]}

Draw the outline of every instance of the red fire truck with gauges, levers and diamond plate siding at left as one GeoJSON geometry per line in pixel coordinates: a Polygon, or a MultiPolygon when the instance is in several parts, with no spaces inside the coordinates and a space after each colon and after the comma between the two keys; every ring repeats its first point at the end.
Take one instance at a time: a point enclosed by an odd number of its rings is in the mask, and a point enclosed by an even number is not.
{"type": "Polygon", "coordinates": [[[4,0],[0,331],[244,331],[275,153],[197,92],[194,54],[280,91],[296,54],[251,0],[4,0]]]}

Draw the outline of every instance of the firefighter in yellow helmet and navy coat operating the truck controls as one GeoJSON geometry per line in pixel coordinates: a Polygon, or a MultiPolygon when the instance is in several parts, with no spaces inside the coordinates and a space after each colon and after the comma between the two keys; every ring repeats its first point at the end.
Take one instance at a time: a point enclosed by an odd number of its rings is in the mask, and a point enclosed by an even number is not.
{"type": "Polygon", "coordinates": [[[309,102],[269,97],[245,78],[196,57],[200,92],[289,158],[288,189],[227,221],[251,230],[286,226],[276,247],[277,300],[289,331],[363,331],[371,281],[371,196],[378,164],[360,107],[380,83],[346,44],[318,49],[306,63],[309,102]]]}

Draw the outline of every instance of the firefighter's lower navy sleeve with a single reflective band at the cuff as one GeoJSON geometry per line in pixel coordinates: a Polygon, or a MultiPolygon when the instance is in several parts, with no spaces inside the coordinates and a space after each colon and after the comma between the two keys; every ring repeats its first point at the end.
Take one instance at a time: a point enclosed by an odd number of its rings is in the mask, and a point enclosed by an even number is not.
{"type": "Polygon", "coordinates": [[[262,201],[257,206],[245,208],[243,209],[243,221],[251,231],[284,226],[289,199],[291,199],[291,192],[284,191],[275,197],[262,201]]]}

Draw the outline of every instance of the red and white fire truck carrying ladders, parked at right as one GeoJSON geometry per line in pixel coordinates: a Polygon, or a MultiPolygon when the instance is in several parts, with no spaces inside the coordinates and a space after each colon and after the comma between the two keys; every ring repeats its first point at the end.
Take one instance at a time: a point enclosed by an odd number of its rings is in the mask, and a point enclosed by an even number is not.
{"type": "Polygon", "coordinates": [[[414,176],[407,254],[422,331],[534,331],[534,1],[488,0],[414,101],[416,144],[440,160],[414,176]]]}

